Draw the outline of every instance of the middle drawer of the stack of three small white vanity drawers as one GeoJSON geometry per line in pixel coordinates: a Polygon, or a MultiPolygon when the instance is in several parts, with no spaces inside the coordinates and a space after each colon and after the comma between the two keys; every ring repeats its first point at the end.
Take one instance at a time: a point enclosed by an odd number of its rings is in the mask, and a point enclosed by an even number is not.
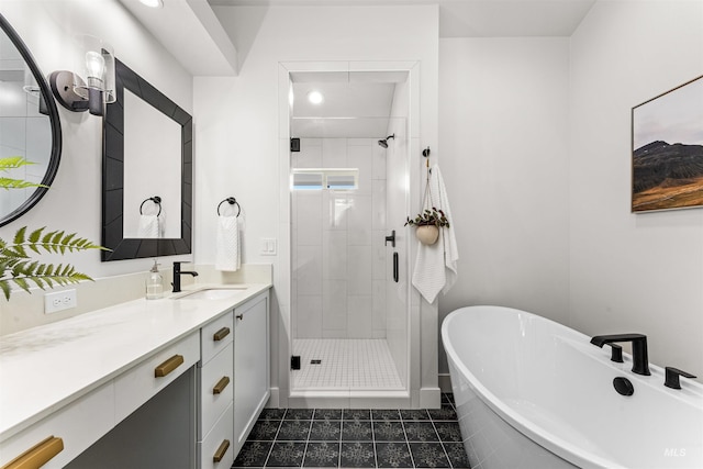
{"type": "Polygon", "coordinates": [[[233,345],[226,346],[200,370],[200,402],[202,439],[215,424],[217,418],[232,403],[234,395],[234,351],[233,345]],[[217,390],[215,390],[217,387],[217,390]]]}

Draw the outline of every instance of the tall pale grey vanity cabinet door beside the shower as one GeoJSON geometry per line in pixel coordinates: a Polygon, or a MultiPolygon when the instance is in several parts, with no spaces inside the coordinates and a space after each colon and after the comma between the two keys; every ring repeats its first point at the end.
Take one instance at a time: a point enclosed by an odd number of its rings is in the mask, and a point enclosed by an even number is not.
{"type": "Polygon", "coordinates": [[[270,395],[269,293],[234,310],[234,454],[246,442],[270,395]]]}

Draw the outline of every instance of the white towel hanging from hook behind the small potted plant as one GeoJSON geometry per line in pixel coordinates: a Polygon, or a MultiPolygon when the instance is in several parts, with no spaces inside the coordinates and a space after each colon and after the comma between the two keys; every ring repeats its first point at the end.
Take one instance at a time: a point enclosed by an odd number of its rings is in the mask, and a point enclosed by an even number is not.
{"type": "Polygon", "coordinates": [[[457,281],[457,260],[459,252],[454,233],[454,219],[449,208],[449,198],[444,186],[439,167],[434,165],[429,176],[429,197],[425,198],[423,209],[435,206],[444,212],[449,220],[449,227],[439,228],[439,239],[433,245],[420,243],[413,271],[413,286],[427,302],[432,303],[437,294],[446,293],[457,281]]]}

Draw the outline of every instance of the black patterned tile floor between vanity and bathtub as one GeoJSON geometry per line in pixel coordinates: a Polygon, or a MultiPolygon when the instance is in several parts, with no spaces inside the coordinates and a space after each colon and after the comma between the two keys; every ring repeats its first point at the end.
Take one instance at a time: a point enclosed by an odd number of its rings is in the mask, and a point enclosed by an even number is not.
{"type": "Polygon", "coordinates": [[[469,468],[450,394],[442,409],[265,409],[235,468],[469,468]]]}

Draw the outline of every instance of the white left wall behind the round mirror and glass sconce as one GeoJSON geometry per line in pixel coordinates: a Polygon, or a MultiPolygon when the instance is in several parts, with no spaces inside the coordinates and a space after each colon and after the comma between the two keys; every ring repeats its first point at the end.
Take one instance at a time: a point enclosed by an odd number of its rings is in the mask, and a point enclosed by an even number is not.
{"type": "MultiPolygon", "coordinates": [[[[77,69],[78,34],[109,42],[115,56],[164,94],[192,112],[192,77],[118,0],[2,0],[0,12],[22,37],[44,75],[77,69]]],[[[102,119],[74,113],[59,104],[63,152],[48,193],[27,214],[0,228],[10,237],[24,225],[78,232],[96,243],[101,237],[102,119]]],[[[67,255],[79,271],[107,277],[148,270],[149,259],[101,263],[98,252],[67,255]]]]}

